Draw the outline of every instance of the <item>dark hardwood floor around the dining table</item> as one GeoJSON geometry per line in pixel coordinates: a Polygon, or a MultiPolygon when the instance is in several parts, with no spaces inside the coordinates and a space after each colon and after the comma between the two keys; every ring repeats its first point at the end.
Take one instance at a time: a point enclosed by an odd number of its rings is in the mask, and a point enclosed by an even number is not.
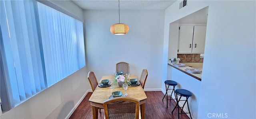
{"type": "MultiPolygon", "coordinates": [[[[80,105],[76,108],[69,119],[92,119],[92,106],[88,101],[92,93],[88,93],[80,105]]],[[[146,92],[148,99],[145,106],[145,119],[178,119],[178,109],[172,114],[172,109],[176,105],[174,100],[168,100],[166,108],[166,98],[162,101],[164,94],[162,92],[146,92]]],[[[104,109],[99,112],[99,119],[104,119],[104,109]]],[[[180,119],[189,119],[186,114],[180,114],[180,119]]]]}

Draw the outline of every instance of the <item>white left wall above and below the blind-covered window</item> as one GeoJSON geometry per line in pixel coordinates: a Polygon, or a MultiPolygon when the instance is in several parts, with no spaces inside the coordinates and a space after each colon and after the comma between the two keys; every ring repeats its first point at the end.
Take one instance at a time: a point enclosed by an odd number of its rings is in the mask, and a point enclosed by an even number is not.
{"type": "MultiPolygon", "coordinates": [[[[59,5],[60,2],[55,2],[59,5]]],[[[59,6],[65,7],[70,13],[83,18],[82,9],[70,6],[72,2],[61,1],[59,6]],[[75,11],[73,11],[75,10],[75,11]]],[[[1,115],[1,119],[64,119],[75,108],[90,90],[86,67],[50,86],[36,96],[14,107],[1,115]]],[[[71,112],[72,114],[72,112],[71,112]]]]}

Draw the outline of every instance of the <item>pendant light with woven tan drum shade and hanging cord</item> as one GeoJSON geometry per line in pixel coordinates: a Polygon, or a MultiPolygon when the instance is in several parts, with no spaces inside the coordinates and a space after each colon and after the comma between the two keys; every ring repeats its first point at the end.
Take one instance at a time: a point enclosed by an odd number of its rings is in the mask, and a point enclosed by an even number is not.
{"type": "Polygon", "coordinates": [[[113,24],[110,27],[110,32],[114,35],[124,35],[126,33],[128,33],[129,31],[129,27],[128,25],[124,24],[124,23],[120,23],[120,2],[118,0],[118,16],[119,16],[119,23],[113,24]]]}

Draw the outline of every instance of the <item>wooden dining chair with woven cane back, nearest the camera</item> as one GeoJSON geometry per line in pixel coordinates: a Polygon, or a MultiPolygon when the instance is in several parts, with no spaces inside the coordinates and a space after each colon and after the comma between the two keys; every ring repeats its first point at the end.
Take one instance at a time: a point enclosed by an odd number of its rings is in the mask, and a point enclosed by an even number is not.
{"type": "Polygon", "coordinates": [[[103,102],[106,119],[141,119],[140,101],[128,97],[116,97],[103,102]]]}

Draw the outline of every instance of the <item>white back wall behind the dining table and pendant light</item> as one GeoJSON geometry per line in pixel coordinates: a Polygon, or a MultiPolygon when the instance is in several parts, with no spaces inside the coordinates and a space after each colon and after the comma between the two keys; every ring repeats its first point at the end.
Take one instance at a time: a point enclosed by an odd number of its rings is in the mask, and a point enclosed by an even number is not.
{"type": "Polygon", "coordinates": [[[116,63],[129,63],[130,74],[148,70],[145,90],[161,89],[164,10],[120,10],[120,23],[130,30],[113,35],[110,26],[118,23],[118,10],[85,10],[86,56],[88,71],[98,80],[113,74],[116,63]]]}

